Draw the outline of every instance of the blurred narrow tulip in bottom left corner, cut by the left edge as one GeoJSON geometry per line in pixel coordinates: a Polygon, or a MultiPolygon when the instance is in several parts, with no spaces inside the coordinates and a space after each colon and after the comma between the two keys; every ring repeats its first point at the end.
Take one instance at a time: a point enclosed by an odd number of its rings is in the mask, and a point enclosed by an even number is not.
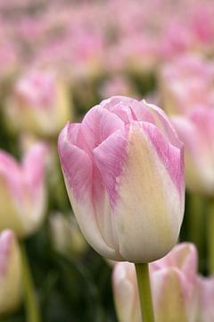
{"type": "Polygon", "coordinates": [[[0,315],[21,303],[21,254],[14,233],[0,233],[0,315]]]}

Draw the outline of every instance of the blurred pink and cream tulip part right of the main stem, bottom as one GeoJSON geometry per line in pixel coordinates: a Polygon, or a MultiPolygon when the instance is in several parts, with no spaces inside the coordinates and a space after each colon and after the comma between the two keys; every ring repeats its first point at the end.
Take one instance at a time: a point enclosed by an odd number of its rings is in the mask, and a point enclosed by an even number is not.
{"type": "Polygon", "coordinates": [[[152,294],[157,322],[194,322],[197,317],[197,251],[178,244],[165,258],[153,262],[152,294]]]}

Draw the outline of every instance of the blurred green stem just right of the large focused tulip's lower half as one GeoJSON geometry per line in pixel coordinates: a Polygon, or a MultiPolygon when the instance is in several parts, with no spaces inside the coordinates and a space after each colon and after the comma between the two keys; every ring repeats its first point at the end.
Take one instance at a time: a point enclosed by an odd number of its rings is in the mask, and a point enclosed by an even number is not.
{"type": "Polygon", "coordinates": [[[205,244],[204,200],[201,196],[190,195],[188,201],[188,241],[196,245],[201,260],[199,266],[202,269],[202,257],[205,244]]]}

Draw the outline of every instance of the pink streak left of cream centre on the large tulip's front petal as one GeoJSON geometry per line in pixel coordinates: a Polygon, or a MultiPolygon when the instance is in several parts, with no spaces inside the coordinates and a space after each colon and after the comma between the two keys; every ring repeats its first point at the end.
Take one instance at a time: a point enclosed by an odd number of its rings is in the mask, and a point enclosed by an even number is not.
{"type": "Polygon", "coordinates": [[[115,131],[109,138],[94,149],[95,164],[102,176],[108,192],[111,207],[116,202],[117,185],[127,159],[128,130],[115,131]]]}

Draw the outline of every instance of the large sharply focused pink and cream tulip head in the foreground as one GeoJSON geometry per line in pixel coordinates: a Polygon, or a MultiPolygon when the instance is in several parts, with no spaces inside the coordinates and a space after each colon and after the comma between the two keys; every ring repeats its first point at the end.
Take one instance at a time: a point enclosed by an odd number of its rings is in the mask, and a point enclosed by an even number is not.
{"type": "Polygon", "coordinates": [[[146,263],[177,242],[184,214],[183,145],[160,108],[111,97],[59,140],[74,214],[103,257],[146,263]]]}

